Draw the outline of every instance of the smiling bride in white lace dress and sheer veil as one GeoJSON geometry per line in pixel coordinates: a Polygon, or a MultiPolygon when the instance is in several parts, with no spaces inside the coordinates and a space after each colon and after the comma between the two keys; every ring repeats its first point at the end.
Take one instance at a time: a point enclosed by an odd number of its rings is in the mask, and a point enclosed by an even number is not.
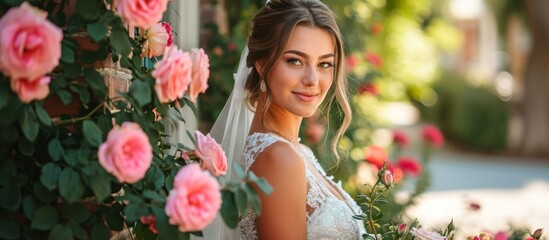
{"type": "MultiPolygon", "coordinates": [[[[233,92],[211,134],[231,163],[266,178],[274,191],[260,193],[261,214],[249,208],[236,238],[361,239],[364,226],[353,219],[359,207],[298,137],[304,117],[336,103],[344,115],[332,144],[338,157],[336,142],[350,122],[334,14],[318,0],[271,0],[252,23],[233,92]]],[[[236,239],[229,235],[221,238],[236,239]]]]}

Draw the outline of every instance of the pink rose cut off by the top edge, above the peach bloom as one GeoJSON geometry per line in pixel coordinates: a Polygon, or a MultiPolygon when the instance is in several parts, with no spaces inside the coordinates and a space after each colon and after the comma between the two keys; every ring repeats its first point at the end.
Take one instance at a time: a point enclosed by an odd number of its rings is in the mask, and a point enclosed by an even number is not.
{"type": "Polygon", "coordinates": [[[124,22],[147,29],[162,20],[168,0],[115,0],[114,5],[124,22]]]}

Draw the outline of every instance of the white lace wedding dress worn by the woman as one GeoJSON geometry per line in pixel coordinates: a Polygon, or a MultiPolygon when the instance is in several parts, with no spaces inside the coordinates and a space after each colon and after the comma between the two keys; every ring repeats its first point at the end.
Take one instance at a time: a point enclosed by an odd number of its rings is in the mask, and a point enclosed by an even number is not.
{"type": "MultiPolygon", "coordinates": [[[[288,142],[286,139],[273,134],[254,133],[246,139],[242,155],[242,165],[246,172],[254,163],[256,157],[263,150],[277,141],[288,142]]],[[[288,142],[289,143],[289,142],[288,142]]],[[[290,143],[291,144],[291,143],[290,143]]],[[[310,148],[300,145],[302,158],[305,163],[307,175],[307,239],[362,239],[364,225],[353,218],[360,213],[360,208],[355,201],[342,188],[341,183],[334,183],[333,177],[327,177],[310,148]],[[311,167],[312,166],[312,167],[311,167]],[[312,168],[312,169],[311,169],[312,168]],[[326,182],[344,198],[337,198],[315,173],[320,173],[326,182]]],[[[257,239],[255,227],[256,214],[248,208],[248,214],[240,222],[242,239],[257,239]]]]}

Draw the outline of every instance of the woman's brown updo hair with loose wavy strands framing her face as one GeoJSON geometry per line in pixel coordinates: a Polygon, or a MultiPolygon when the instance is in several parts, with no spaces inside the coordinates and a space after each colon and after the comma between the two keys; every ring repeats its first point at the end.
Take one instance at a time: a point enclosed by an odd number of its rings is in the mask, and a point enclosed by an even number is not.
{"type": "MultiPolygon", "coordinates": [[[[344,113],[341,126],[332,142],[334,155],[339,159],[337,142],[345,130],[347,130],[352,115],[347,99],[347,79],[343,64],[345,56],[335,14],[319,0],[271,0],[255,15],[252,20],[252,30],[248,37],[249,54],[246,59],[247,66],[251,68],[245,85],[245,89],[249,92],[248,105],[252,109],[257,105],[260,93],[260,78],[264,76],[264,80],[268,81],[266,79],[268,76],[267,73],[282,55],[282,51],[297,25],[323,29],[332,35],[335,42],[335,88],[326,97],[327,102],[325,106],[328,106],[329,110],[329,107],[337,102],[339,108],[344,113]],[[255,62],[259,60],[262,61],[263,66],[261,74],[255,68],[255,62]]],[[[271,95],[268,86],[267,84],[267,101],[263,110],[267,110],[271,104],[271,95]]],[[[263,114],[265,112],[262,111],[263,114]]]]}

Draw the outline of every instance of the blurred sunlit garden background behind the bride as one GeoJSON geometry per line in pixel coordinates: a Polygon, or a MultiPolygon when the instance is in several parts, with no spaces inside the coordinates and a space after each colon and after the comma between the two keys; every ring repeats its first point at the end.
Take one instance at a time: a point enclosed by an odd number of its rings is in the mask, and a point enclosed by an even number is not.
{"type": "MultiPolygon", "coordinates": [[[[211,61],[197,126],[209,131],[265,1],[185,2],[200,11],[176,29],[198,32],[194,45],[211,61]]],[[[549,227],[549,1],[323,2],[345,38],[354,118],[339,164],[321,151],[337,130],[337,108],[306,119],[302,141],[346,190],[360,193],[374,163],[387,162],[400,171],[388,221],[453,219],[464,235],[549,227]],[[440,129],[443,146],[427,147],[425,126],[440,129]]]]}

